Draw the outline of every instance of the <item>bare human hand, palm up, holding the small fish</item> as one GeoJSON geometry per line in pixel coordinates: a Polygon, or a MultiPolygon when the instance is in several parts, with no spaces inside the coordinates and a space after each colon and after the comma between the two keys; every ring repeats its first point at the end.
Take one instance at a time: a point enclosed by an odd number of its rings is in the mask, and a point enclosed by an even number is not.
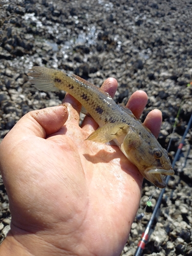
{"type": "MultiPolygon", "coordinates": [[[[102,90],[112,97],[117,81],[102,90]]],[[[137,118],[147,102],[135,92],[137,118]]],[[[85,141],[98,127],[69,94],[63,105],[32,111],[0,145],[0,170],[10,200],[11,230],[0,255],[119,255],[141,197],[142,176],[117,146],[85,141]]],[[[157,137],[161,112],[144,124],[157,137]]]]}

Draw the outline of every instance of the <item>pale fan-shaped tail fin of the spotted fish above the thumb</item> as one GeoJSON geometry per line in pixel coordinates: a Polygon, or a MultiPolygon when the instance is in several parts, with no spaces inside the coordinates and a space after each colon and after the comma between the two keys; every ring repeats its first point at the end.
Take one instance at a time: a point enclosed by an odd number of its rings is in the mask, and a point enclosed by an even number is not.
{"type": "Polygon", "coordinates": [[[57,83],[61,80],[61,78],[63,78],[63,75],[65,75],[62,71],[45,67],[33,67],[29,71],[32,72],[28,73],[27,75],[33,77],[30,82],[33,83],[38,90],[63,90],[57,86],[57,83]]]}

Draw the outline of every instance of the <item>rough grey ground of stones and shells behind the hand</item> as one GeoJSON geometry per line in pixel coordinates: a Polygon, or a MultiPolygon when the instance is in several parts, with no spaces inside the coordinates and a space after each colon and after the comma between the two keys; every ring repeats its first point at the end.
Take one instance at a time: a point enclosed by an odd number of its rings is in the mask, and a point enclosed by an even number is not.
{"type": "MultiPolygon", "coordinates": [[[[192,2],[189,0],[7,0],[0,3],[0,137],[27,112],[57,105],[65,93],[37,92],[26,73],[32,66],[72,71],[100,86],[115,77],[116,102],[139,89],[148,94],[141,117],[163,114],[159,142],[174,158],[192,112],[192,2]]],[[[156,225],[143,255],[192,255],[192,132],[186,136],[176,175],[169,180],[156,225]]],[[[155,187],[144,181],[138,213],[155,187]]],[[[134,255],[159,190],[132,226],[121,255],[134,255]]],[[[8,197],[0,179],[0,240],[10,226],[8,197]]]]}

